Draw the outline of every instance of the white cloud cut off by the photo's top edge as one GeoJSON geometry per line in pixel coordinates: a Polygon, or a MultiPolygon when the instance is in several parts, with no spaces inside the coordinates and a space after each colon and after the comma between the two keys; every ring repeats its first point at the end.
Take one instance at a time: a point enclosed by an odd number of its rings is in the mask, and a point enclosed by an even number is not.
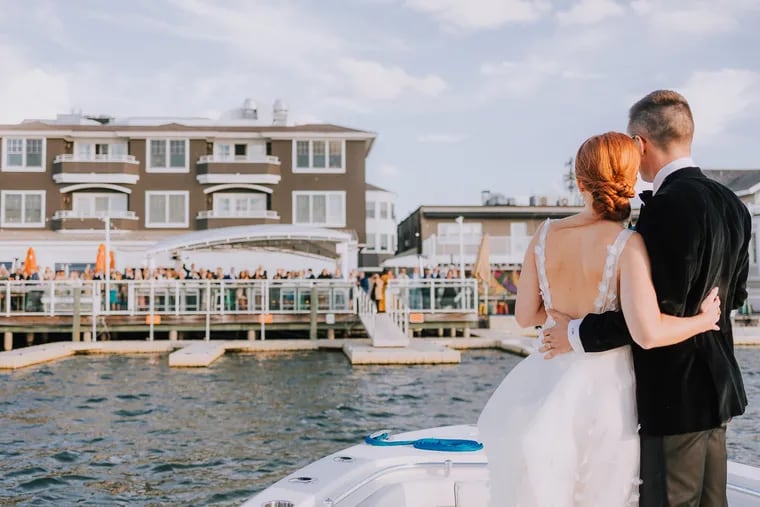
{"type": "Polygon", "coordinates": [[[546,0],[406,0],[404,4],[433,15],[448,28],[460,30],[487,30],[536,21],[551,10],[546,0]]]}

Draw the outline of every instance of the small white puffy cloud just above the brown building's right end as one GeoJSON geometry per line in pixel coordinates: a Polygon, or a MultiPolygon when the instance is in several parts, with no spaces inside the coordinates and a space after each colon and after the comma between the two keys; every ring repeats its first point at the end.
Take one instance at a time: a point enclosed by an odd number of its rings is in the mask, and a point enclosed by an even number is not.
{"type": "Polygon", "coordinates": [[[392,100],[404,93],[435,96],[446,90],[446,81],[434,74],[412,76],[400,67],[379,62],[343,58],[338,68],[353,93],[363,99],[392,100]]]}

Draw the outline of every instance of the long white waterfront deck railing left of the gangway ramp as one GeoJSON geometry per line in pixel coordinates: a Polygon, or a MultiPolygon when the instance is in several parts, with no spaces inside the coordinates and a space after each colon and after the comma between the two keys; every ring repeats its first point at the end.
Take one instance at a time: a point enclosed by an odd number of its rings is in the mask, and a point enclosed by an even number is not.
{"type": "Polygon", "coordinates": [[[0,313],[16,315],[356,313],[348,280],[0,281],[0,313]]]}

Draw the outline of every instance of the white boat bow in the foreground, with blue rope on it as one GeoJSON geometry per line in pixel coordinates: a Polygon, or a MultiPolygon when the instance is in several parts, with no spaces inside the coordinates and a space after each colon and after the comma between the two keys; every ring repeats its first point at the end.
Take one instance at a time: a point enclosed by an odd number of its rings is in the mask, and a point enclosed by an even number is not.
{"type": "MultiPolygon", "coordinates": [[[[478,440],[475,426],[444,426],[394,435],[478,440]]],[[[247,500],[243,507],[485,507],[486,456],[411,445],[361,443],[317,460],[247,500]]],[[[760,469],[728,463],[730,507],[760,506],[760,469]]]]}

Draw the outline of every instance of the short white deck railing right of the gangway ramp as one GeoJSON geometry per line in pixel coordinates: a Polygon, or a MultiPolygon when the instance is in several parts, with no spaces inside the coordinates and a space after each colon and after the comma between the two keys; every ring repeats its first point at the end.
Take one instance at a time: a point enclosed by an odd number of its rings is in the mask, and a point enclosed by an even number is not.
{"type": "Polygon", "coordinates": [[[408,306],[419,313],[477,313],[478,281],[474,278],[416,278],[388,281],[408,306]]]}

